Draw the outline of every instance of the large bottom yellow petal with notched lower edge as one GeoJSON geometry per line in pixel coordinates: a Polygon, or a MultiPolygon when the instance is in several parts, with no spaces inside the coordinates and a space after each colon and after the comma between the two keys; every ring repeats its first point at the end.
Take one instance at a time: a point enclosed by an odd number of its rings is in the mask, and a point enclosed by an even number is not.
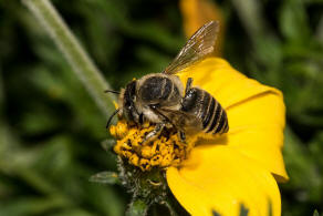
{"type": "Polygon", "coordinates": [[[239,215],[240,205],[249,216],[279,216],[280,193],[273,176],[254,160],[229,146],[198,146],[184,167],[169,167],[167,183],[177,200],[191,215],[239,215]]]}

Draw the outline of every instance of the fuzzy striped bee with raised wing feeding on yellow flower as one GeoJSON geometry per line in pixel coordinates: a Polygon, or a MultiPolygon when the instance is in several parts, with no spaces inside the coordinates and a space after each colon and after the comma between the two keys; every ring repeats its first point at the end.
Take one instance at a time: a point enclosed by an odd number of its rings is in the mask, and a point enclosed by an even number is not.
{"type": "Polygon", "coordinates": [[[144,142],[156,138],[163,128],[171,126],[178,131],[183,141],[185,134],[194,132],[228,132],[228,117],[220,103],[207,91],[192,86],[191,78],[187,80],[184,90],[176,75],[212,54],[218,29],[217,21],[201,27],[162,73],[133,80],[121,92],[106,91],[119,94],[118,109],[107,121],[107,126],[117,113],[132,123],[155,124],[144,142]]]}

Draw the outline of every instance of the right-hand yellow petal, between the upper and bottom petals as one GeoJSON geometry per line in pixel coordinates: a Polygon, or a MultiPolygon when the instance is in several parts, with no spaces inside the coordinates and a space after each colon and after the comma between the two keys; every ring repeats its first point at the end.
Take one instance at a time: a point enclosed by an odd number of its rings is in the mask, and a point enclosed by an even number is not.
{"type": "Polygon", "coordinates": [[[284,105],[273,93],[248,100],[228,109],[231,130],[226,135],[227,144],[258,162],[279,182],[288,181],[283,157],[284,105]]]}

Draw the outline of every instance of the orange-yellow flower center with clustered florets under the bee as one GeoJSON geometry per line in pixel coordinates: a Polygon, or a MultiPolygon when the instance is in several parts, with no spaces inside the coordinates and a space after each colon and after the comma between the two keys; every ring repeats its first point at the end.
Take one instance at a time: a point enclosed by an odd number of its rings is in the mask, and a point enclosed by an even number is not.
{"type": "Polygon", "coordinates": [[[129,125],[121,120],[110,127],[111,134],[117,140],[114,151],[126,158],[129,164],[142,171],[153,167],[178,166],[194,147],[192,138],[180,141],[175,128],[163,130],[160,135],[143,143],[145,136],[154,130],[155,125],[129,125]]]}

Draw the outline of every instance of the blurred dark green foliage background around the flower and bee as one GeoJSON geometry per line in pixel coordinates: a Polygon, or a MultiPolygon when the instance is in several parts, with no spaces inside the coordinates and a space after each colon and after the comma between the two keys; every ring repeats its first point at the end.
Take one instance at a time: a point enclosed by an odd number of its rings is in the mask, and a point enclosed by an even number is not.
{"type": "MultiPolygon", "coordinates": [[[[159,72],[185,43],[174,0],[53,0],[114,89],[159,72]]],[[[282,215],[323,213],[323,1],[218,0],[223,58],[284,93],[282,215]]],[[[0,0],[0,215],[124,215],[116,171],[100,142],[103,116],[39,22],[0,0]]]]}

